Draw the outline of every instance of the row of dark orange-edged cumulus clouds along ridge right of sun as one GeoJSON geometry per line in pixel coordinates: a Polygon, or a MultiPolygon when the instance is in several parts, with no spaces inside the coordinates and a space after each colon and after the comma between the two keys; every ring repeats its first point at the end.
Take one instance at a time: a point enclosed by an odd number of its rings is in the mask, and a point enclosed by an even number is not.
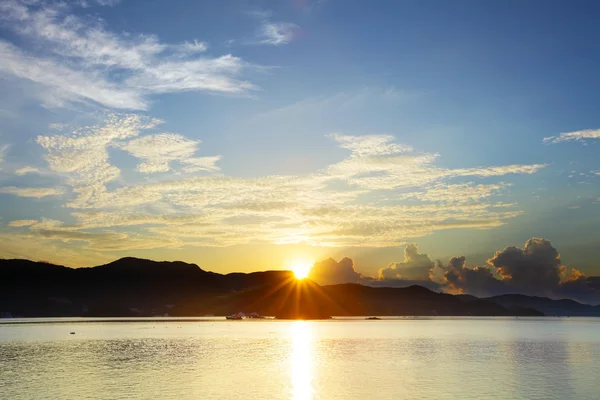
{"type": "Polygon", "coordinates": [[[405,247],[404,262],[390,263],[377,277],[364,276],[354,262],[329,258],[316,263],[311,277],[322,284],[355,282],[375,287],[419,285],[434,291],[488,297],[518,293],[572,298],[600,303],[600,277],[586,277],[576,268],[561,264],[558,251],[546,239],[531,238],[523,248],[510,246],[497,251],[488,265],[469,267],[466,257],[455,256],[435,263],[418,247],[405,247]]]}

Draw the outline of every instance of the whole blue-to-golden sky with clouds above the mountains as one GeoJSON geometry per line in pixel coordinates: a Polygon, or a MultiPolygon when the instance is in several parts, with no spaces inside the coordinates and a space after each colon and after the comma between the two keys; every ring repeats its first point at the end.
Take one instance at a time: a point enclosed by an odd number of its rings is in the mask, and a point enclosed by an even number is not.
{"type": "Polygon", "coordinates": [[[4,0],[0,257],[376,281],[441,260],[448,285],[553,249],[560,284],[598,275],[598,12],[4,0]]]}

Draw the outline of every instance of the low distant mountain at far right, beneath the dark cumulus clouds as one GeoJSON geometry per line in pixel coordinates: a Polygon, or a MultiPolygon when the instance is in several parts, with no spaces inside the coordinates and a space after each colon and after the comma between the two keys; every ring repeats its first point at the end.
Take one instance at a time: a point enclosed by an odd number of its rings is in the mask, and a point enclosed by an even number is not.
{"type": "Polygon", "coordinates": [[[526,296],[522,294],[504,294],[487,297],[484,300],[503,307],[534,308],[548,316],[559,317],[598,317],[600,306],[582,304],[571,299],[552,300],[547,297],[526,296]]]}

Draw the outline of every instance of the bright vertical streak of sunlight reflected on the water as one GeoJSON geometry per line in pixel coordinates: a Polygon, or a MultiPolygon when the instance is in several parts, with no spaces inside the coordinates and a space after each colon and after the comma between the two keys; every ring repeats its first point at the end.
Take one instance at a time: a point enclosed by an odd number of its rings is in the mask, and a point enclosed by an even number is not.
{"type": "Polygon", "coordinates": [[[306,321],[292,324],[292,399],[308,400],[313,398],[312,387],[312,335],[306,321]]]}

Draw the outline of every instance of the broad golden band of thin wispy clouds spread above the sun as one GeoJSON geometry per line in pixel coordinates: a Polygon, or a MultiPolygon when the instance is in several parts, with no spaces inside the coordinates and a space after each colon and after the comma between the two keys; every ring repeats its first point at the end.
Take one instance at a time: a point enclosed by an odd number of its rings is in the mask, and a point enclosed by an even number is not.
{"type": "Polygon", "coordinates": [[[509,175],[533,174],[544,167],[441,168],[437,154],[396,143],[392,135],[335,133],[329,135],[332,142],[349,154],[324,169],[240,178],[214,174],[219,156],[198,157],[198,140],[175,133],[145,134],[160,122],[109,115],[104,125],[57,125],[56,133],[38,137],[49,170],[68,179],[72,192],[64,206],[72,209],[75,222],[13,226],[48,240],[87,243],[88,250],[122,248],[125,245],[117,242],[129,240],[123,235],[132,238],[135,248],[244,243],[394,246],[439,230],[504,224],[522,213],[518,204],[502,201],[509,175]],[[140,159],[140,173],[169,174],[127,182],[109,158],[111,147],[140,159]],[[198,171],[204,175],[187,175],[198,171]],[[471,181],[453,181],[466,176],[471,181]],[[500,177],[495,183],[476,181],[500,177]],[[117,227],[118,233],[97,233],[117,227]]]}

